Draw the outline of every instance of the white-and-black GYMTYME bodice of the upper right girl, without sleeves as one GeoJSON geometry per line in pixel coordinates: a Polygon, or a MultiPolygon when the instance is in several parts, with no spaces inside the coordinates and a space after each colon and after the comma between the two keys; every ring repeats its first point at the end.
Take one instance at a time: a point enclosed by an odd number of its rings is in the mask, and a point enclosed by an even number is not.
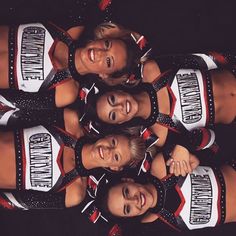
{"type": "Polygon", "coordinates": [[[152,83],[152,87],[155,92],[166,87],[170,98],[170,115],[158,112],[157,105],[152,102],[153,111],[150,118],[153,117],[156,122],[175,131],[181,129],[191,131],[195,128],[214,126],[212,82],[207,71],[195,69],[167,71],[152,83]]]}

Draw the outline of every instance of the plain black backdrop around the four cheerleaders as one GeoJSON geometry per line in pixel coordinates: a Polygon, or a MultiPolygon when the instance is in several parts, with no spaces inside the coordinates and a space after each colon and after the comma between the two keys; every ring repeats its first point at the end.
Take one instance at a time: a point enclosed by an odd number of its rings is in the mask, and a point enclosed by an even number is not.
{"type": "MultiPolygon", "coordinates": [[[[61,19],[70,1],[74,0],[1,1],[0,22],[61,19]]],[[[234,52],[236,50],[234,2],[234,0],[113,0],[112,11],[114,21],[142,32],[158,53],[208,50],[234,52]]],[[[234,133],[232,129],[220,127],[218,137],[226,147],[233,146],[234,133]]],[[[229,153],[231,155],[231,152],[229,153]]],[[[78,214],[77,209],[70,209],[0,212],[0,232],[0,235],[5,236],[99,236],[104,235],[106,230],[88,223],[78,214]]],[[[153,233],[147,229],[138,232],[132,229],[129,235],[139,234],[170,235],[165,231],[153,233]]],[[[217,229],[182,233],[182,235],[200,234],[236,235],[236,225],[229,224],[217,229]]]]}

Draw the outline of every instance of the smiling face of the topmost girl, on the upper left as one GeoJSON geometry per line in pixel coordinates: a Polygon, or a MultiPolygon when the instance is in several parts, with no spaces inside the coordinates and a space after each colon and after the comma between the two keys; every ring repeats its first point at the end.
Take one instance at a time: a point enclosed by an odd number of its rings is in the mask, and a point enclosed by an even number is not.
{"type": "Polygon", "coordinates": [[[121,40],[100,39],[81,49],[81,63],[87,73],[98,74],[102,79],[126,66],[126,46],[121,40]]]}

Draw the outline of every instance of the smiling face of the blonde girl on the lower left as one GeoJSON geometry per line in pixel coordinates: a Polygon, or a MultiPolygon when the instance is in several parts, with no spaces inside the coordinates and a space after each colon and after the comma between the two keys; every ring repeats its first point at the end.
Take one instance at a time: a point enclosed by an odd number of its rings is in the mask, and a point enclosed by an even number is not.
{"type": "Polygon", "coordinates": [[[121,170],[131,161],[129,139],[123,135],[109,135],[93,144],[92,158],[99,167],[121,170]]]}

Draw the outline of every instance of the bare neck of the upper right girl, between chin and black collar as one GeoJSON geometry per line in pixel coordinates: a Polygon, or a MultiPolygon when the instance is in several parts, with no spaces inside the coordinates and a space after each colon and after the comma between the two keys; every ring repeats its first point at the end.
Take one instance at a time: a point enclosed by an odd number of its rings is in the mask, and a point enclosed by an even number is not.
{"type": "Polygon", "coordinates": [[[151,113],[151,103],[147,92],[141,92],[134,95],[134,97],[138,103],[138,113],[136,114],[136,117],[147,119],[151,113]]]}

